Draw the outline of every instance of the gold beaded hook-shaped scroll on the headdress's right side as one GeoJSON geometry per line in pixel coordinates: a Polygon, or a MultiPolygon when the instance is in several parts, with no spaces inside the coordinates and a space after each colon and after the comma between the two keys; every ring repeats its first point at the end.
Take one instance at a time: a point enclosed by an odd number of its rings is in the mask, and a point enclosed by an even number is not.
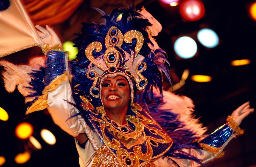
{"type": "Polygon", "coordinates": [[[136,30],[131,30],[131,31],[126,32],[123,37],[124,37],[124,41],[128,44],[131,43],[132,39],[134,39],[134,38],[137,40],[137,44],[134,49],[135,57],[136,57],[143,46],[144,38],[143,38],[142,33],[139,31],[136,31],[136,30]]]}

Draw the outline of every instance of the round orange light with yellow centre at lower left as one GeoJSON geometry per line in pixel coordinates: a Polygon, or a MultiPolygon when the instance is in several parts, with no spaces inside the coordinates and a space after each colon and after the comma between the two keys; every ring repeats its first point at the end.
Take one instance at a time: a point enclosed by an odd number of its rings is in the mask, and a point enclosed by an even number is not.
{"type": "Polygon", "coordinates": [[[27,139],[33,134],[33,126],[28,122],[22,122],[17,125],[15,134],[20,139],[27,139]]]}

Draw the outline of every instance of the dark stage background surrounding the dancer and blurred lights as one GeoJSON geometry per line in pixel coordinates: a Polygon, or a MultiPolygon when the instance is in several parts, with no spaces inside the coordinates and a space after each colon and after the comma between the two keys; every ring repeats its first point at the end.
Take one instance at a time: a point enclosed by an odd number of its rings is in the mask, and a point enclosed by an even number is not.
{"type": "MultiPolygon", "coordinates": [[[[90,8],[98,7],[108,14],[116,5],[127,7],[126,2],[144,6],[159,22],[163,29],[155,37],[160,48],[166,50],[171,63],[171,76],[181,78],[185,69],[190,70],[185,85],[175,91],[177,94],[190,97],[195,104],[195,114],[208,127],[207,134],[225,123],[227,115],[246,101],[252,108],[255,104],[255,46],[256,21],[249,15],[252,0],[243,1],[202,1],[205,15],[200,20],[190,22],[182,18],[179,5],[171,7],[159,1],[84,1],[74,14],[64,23],[54,25],[61,40],[72,40],[72,33],[79,32],[81,22],[98,22],[101,15],[90,8]],[[196,37],[201,28],[213,29],[220,38],[220,44],[207,49],[196,37]],[[197,56],[191,59],[177,59],[173,50],[174,40],[180,36],[192,37],[198,45],[197,56]],[[251,64],[231,66],[235,59],[250,59],[251,64]],[[213,80],[208,83],[197,83],[190,80],[194,74],[210,75],[213,80]]],[[[181,2],[180,2],[181,3],[181,2]]],[[[8,55],[5,59],[13,63],[26,63],[33,55],[41,54],[40,48],[34,47],[8,55]]],[[[2,70],[2,68],[0,68],[2,70]]],[[[172,77],[172,84],[177,83],[172,77]]],[[[165,89],[170,88],[165,84],[165,89]]],[[[3,80],[0,79],[0,106],[9,114],[9,120],[0,121],[0,156],[6,157],[3,166],[79,166],[78,153],[73,137],[62,131],[53,123],[48,112],[39,111],[25,115],[27,105],[17,90],[7,93],[3,80]],[[28,140],[15,136],[15,127],[21,122],[29,122],[34,127],[33,136],[42,144],[42,150],[35,150],[28,140]],[[40,130],[46,128],[53,132],[57,139],[55,145],[46,144],[40,136],[40,130]],[[25,150],[32,152],[31,159],[25,164],[15,164],[14,157],[25,150]]],[[[245,118],[241,128],[245,134],[239,136],[226,146],[226,155],[210,162],[210,166],[255,166],[256,135],[255,113],[245,118]]]]}

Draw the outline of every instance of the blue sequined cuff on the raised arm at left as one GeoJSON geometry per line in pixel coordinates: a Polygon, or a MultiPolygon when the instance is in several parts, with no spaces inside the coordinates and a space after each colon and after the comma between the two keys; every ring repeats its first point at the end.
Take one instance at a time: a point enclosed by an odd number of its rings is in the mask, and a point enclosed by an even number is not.
{"type": "Polygon", "coordinates": [[[65,53],[51,50],[47,53],[45,63],[45,77],[43,79],[43,83],[47,86],[54,78],[66,71],[65,53]]]}

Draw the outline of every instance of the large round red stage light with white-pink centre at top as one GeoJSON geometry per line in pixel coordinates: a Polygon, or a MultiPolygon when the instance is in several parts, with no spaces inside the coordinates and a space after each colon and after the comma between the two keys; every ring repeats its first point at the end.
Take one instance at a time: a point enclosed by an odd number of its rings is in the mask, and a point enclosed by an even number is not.
{"type": "Polygon", "coordinates": [[[201,1],[186,0],[181,3],[180,12],[183,18],[195,21],[203,17],[205,14],[205,7],[201,1]]]}

